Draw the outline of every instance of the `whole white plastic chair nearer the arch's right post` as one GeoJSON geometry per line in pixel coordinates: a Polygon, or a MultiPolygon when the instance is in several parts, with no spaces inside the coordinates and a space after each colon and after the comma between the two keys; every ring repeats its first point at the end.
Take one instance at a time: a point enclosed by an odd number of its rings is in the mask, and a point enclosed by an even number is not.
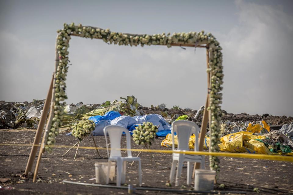
{"type": "MultiPolygon", "coordinates": [[[[172,123],[171,134],[172,134],[172,150],[173,151],[189,151],[189,138],[190,135],[195,134],[195,144],[194,144],[194,151],[198,151],[198,134],[199,134],[199,127],[196,123],[191,121],[174,121],[172,123]],[[177,134],[178,138],[178,147],[175,149],[174,144],[174,132],[177,134]]],[[[199,162],[201,164],[201,169],[204,169],[204,156],[200,155],[189,155],[189,154],[180,154],[180,153],[173,153],[173,161],[170,173],[170,183],[173,182],[174,174],[175,174],[175,167],[178,162],[177,173],[176,173],[176,180],[175,186],[178,186],[178,179],[181,175],[183,162],[187,161],[187,185],[191,182],[191,175],[192,175],[192,162],[199,162]],[[190,166],[191,165],[191,166],[190,166]]]]}

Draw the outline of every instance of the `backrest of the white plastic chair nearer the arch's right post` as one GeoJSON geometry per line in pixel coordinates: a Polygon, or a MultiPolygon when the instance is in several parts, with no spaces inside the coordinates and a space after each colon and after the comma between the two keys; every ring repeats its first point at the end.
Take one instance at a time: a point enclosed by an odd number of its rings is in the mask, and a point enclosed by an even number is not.
{"type": "MultiPolygon", "coordinates": [[[[199,127],[196,123],[191,121],[174,121],[172,123],[171,134],[172,143],[174,143],[174,133],[176,132],[178,138],[177,150],[189,150],[189,138],[194,133],[195,143],[194,151],[198,151],[198,134],[199,127]]],[[[172,149],[175,150],[175,144],[172,144],[172,149]]]]}

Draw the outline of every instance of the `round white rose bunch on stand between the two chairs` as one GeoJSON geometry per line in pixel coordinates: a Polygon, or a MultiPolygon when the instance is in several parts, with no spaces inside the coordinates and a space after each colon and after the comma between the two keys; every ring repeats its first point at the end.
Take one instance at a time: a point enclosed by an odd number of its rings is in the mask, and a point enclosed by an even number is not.
{"type": "Polygon", "coordinates": [[[133,131],[133,141],[137,145],[152,145],[152,141],[156,137],[156,132],[158,132],[157,126],[151,122],[143,122],[143,125],[139,125],[133,131]]]}

